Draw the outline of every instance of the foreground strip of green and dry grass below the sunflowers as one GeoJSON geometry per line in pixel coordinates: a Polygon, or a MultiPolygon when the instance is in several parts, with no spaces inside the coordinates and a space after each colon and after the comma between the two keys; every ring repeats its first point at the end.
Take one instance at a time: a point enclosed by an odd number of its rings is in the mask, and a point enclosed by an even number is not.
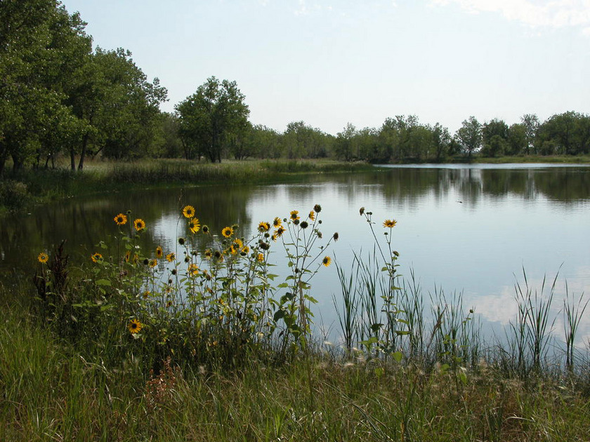
{"type": "MultiPolygon", "coordinates": [[[[316,349],[280,367],[141,373],[105,368],[22,309],[1,309],[0,439],[5,441],[575,441],[590,437],[588,397],[534,387],[482,364],[451,373],[316,349]],[[303,386],[310,383],[313,401],[303,386]]],[[[360,355],[359,355],[360,356],[360,355]]]]}

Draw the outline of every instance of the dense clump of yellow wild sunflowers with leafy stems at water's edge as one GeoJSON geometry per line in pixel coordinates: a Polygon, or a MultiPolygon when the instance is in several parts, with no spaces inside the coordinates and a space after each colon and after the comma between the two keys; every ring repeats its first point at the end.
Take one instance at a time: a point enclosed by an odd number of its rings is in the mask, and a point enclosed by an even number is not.
{"type": "Polygon", "coordinates": [[[192,367],[242,366],[249,356],[284,359],[310,334],[309,304],[316,302],[310,280],[332,241],[322,244],[320,210],[263,221],[245,237],[237,225],[214,235],[185,206],[176,247],[152,252],[140,248],[145,222],[119,213],[118,234],[98,243],[81,276],[72,277],[63,244],[50,257],[39,255],[36,312],[84,354],[103,354],[108,342],[117,351],[105,363],[131,355],[146,369],[168,356],[192,367]],[[206,249],[197,236],[205,237],[206,249]],[[291,269],[276,286],[269,261],[275,243],[291,269]],[[273,347],[276,354],[269,354],[273,347]]]}

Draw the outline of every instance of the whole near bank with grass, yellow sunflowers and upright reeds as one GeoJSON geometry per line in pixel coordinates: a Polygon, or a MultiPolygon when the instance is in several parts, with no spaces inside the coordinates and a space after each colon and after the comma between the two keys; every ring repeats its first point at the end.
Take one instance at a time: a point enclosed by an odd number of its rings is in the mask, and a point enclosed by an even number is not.
{"type": "MultiPolygon", "coordinates": [[[[211,232],[185,206],[174,255],[141,250],[150,226],[120,213],[87,265],[40,253],[34,277],[0,286],[0,439],[589,440],[587,349],[568,345],[565,365],[547,351],[553,290],[519,286],[507,342],[486,341],[460,295],[425,307],[400,281],[396,222],[364,208],[375,251],[338,267],[342,343],[314,340],[310,280],[337,235],[310,209],[197,250],[211,232]]],[[[586,304],[565,301],[575,342],[586,304]]]]}

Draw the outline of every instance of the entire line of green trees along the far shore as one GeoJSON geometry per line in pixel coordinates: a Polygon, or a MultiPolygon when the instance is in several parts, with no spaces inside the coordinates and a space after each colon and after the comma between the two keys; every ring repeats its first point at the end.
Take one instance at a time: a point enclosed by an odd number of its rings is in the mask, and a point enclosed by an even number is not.
{"type": "Polygon", "coordinates": [[[457,156],[589,154],[590,116],[565,112],[509,126],[471,116],[456,133],[417,116],[387,118],[380,128],[348,123],[336,136],[303,121],[283,132],[254,126],[235,81],[207,79],[178,103],[148,81],[122,48],[93,50],[78,13],[57,0],[0,1],[0,173],[7,164],[72,169],[88,156],[138,158],[446,161],[457,156]]]}

